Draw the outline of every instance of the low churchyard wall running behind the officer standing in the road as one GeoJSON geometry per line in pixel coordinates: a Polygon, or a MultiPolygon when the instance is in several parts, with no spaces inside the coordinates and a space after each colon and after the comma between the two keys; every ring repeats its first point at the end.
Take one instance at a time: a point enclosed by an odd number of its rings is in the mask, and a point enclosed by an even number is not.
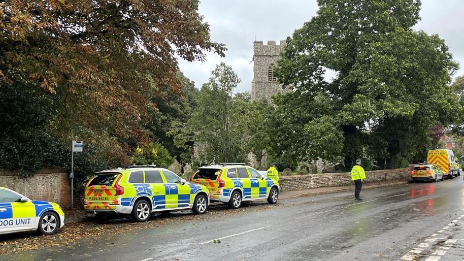
{"type": "MultiPolygon", "coordinates": [[[[379,182],[387,180],[409,179],[409,169],[393,169],[380,171],[367,171],[363,182],[379,182]]],[[[323,173],[295,175],[279,178],[282,191],[300,190],[316,187],[346,186],[351,184],[351,173],[323,173]]]]}

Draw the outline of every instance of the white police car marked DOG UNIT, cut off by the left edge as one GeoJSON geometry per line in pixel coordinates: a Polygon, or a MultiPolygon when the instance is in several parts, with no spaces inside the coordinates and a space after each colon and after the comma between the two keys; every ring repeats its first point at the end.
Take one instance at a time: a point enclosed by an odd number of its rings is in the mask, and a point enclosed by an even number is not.
{"type": "Polygon", "coordinates": [[[18,192],[0,187],[0,234],[38,231],[51,235],[63,225],[64,213],[58,204],[31,201],[18,192]]]}

